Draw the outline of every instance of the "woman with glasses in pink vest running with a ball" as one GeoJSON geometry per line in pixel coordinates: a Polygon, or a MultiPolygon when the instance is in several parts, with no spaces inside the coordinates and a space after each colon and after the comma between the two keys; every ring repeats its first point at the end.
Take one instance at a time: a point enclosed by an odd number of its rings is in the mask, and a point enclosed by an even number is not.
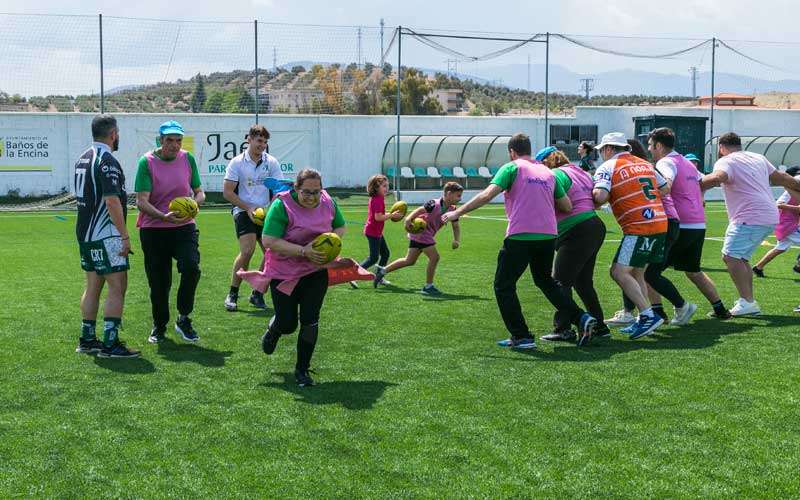
{"type": "Polygon", "coordinates": [[[322,233],[342,236],[344,231],[344,216],[322,189],[319,172],[311,168],[297,174],[293,190],[275,198],[264,220],[264,272],[271,279],[275,316],[261,338],[261,347],[266,354],[272,354],[281,335],[293,333],[299,322],[294,376],[300,387],[314,385],[309,375],[311,356],[317,345],[319,313],[328,291],[328,270],[322,267],[325,254],[314,250],[311,243],[322,233]],[[285,282],[291,285],[288,293],[285,282]]]}

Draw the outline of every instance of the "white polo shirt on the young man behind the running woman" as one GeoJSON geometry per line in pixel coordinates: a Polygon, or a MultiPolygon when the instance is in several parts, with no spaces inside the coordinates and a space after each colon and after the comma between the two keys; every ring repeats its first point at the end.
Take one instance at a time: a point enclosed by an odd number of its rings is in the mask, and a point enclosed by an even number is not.
{"type": "MultiPolygon", "coordinates": [[[[269,189],[264,185],[268,177],[283,179],[280,163],[265,152],[261,155],[261,162],[256,165],[250,158],[249,148],[235,156],[225,169],[225,180],[238,182],[236,194],[246,205],[254,208],[269,205],[269,189]]],[[[233,207],[234,215],[242,211],[239,207],[233,207]]]]}

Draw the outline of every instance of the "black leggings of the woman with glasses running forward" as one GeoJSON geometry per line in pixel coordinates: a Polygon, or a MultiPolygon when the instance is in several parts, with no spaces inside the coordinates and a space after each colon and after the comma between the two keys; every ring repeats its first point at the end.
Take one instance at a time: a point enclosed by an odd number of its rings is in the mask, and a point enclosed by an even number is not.
{"type": "Polygon", "coordinates": [[[270,321],[269,329],[277,335],[289,335],[297,329],[298,319],[300,320],[295,369],[308,370],[317,345],[319,312],[328,292],[328,271],[321,269],[303,276],[290,295],[278,290],[278,285],[282,282],[283,280],[272,280],[269,283],[272,306],[275,308],[275,316],[270,321]]]}

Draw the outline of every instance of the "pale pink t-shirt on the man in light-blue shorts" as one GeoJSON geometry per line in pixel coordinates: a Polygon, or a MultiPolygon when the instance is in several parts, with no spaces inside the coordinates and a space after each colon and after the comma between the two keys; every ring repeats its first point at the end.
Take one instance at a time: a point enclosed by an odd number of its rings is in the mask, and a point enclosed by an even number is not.
{"type": "Polygon", "coordinates": [[[769,176],[775,167],[763,155],[736,151],[717,160],[714,171],[728,174],[722,184],[728,220],[734,224],[773,225],[778,208],[772,197],[769,176]]]}

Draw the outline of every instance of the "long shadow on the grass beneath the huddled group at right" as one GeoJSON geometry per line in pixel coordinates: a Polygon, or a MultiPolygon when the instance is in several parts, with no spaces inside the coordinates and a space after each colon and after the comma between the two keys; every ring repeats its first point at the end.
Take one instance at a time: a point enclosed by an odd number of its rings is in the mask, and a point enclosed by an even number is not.
{"type": "MultiPolygon", "coordinates": [[[[588,346],[582,348],[578,348],[574,344],[558,343],[552,352],[539,349],[514,350],[512,353],[516,354],[516,356],[512,358],[500,355],[486,357],[518,361],[572,361],[582,363],[605,361],[617,354],[632,351],[705,349],[716,345],[724,335],[744,333],[752,330],[755,326],[752,323],[745,323],[740,320],[702,319],[694,321],[691,328],[657,331],[656,334],[649,336],[650,339],[654,339],[656,342],[647,339],[628,340],[615,332],[611,338],[592,339],[588,346]]],[[[549,342],[537,340],[537,346],[543,344],[549,344],[549,342]]]]}

